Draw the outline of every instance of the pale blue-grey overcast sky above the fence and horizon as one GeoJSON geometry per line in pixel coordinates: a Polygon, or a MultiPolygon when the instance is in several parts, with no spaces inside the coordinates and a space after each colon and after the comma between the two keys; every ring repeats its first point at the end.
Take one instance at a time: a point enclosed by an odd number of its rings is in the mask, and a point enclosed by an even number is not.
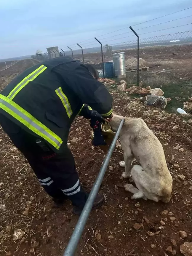
{"type": "MultiPolygon", "coordinates": [[[[77,49],[76,43],[98,36],[103,43],[115,44],[135,39],[129,28],[105,36],[111,31],[135,25],[153,18],[192,6],[190,0],[1,0],[0,1],[0,59],[35,54],[37,49],[59,46],[77,49]],[[115,36],[121,33],[123,35],[115,36]],[[100,37],[99,37],[100,36],[100,37]],[[126,36],[131,36],[123,38],[126,36]],[[107,39],[105,39],[108,37],[107,39]],[[116,39],[116,40],[114,40],[116,39]]],[[[139,28],[189,16],[192,9],[169,15],[133,27],[139,28]]],[[[171,28],[192,23],[191,17],[141,29],[139,33],[171,28]]],[[[156,35],[192,30],[192,25],[141,35],[156,35]]],[[[95,47],[94,39],[82,42],[84,47],[95,47]]]]}

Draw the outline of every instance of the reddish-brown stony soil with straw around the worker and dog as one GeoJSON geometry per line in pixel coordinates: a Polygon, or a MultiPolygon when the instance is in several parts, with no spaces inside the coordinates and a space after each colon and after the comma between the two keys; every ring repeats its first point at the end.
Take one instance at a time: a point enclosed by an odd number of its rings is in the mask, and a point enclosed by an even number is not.
{"type": "MultiPolygon", "coordinates": [[[[19,63],[0,77],[1,89],[15,74],[34,64],[31,60],[19,63]]],[[[162,143],[173,177],[172,198],[168,204],[132,201],[131,194],[123,188],[129,181],[121,180],[123,168],[119,162],[123,160],[123,152],[116,148],[100,188],[105,203],[91,212],[76,256],[182,255],[180,245],[192,241],[191,125],[175,114],[135,102],[126,94],[116,91],[112,94],[116,113],[143,118],[162,143]],[[181,238],[179,231],[185,231],[187,237],[181,238]],[[167,252],[169,246],[172,253],[167,252]]],[[[92,146],[90,135],[89,121],[77,118],[68,138],[81,183],[87,191],[92,188],[105,158],[100,148],[92,146]],[[78,142],[71,142],[73,137],[78,142]]],[[[62,255],[77,220],[69,201],[62,209],[52,207],[27,161],[1,129],[0,255],[62,255]],[[25,233],[22,239],[14,241],[12,235],[18,229],[25,233]]]]}

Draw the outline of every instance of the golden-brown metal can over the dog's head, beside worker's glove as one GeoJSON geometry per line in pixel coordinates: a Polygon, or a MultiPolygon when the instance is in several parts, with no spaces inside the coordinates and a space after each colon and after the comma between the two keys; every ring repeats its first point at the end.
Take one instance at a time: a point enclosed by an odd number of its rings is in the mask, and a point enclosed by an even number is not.
{"type": "MultiPolygon", "coordinates": [[[[115,136],[115,132],[111,130],[111,126],[105,122],[105,124],[101,124],[101,134],[104,137],[105,142],[107,145],[100,145],[99,147],[103,150],[103,152],[107,152],[109,147],[111,146],[111,143],[113,141],[113,138],[115,136]]],[[[93,140],[93,132],[91,134],[91,139],[93,140]]]]}

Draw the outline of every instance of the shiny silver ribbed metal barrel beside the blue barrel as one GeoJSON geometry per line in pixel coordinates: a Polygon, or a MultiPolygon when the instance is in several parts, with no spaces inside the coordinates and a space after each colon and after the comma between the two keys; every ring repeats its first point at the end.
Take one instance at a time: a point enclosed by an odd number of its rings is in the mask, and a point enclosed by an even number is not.
{"type": "Polygon", "coordinates": [[[126,76],[124,52],[113,54],[113,65],[115,76],[126,76]]]}

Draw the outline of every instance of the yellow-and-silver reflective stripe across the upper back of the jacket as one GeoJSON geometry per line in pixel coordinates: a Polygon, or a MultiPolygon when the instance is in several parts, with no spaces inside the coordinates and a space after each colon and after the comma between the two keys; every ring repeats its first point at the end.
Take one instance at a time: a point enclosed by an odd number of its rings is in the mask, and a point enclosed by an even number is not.
{"type": "Polygon", "coordinates": [[[17,95],[18,92],[20,92],[25,85],[27,85],[30,81],[33,81],[37,76],[39,76],[44,70],[46,70],[46,66],[41,65],[39,68],[34,70],[32,73],[30,73],[28,76],[26,76],[22,81],[20,81],[19,84],[17,84],[12,91],[7,96],[10,100],[12,100],[15,95],[17,95]]]}

